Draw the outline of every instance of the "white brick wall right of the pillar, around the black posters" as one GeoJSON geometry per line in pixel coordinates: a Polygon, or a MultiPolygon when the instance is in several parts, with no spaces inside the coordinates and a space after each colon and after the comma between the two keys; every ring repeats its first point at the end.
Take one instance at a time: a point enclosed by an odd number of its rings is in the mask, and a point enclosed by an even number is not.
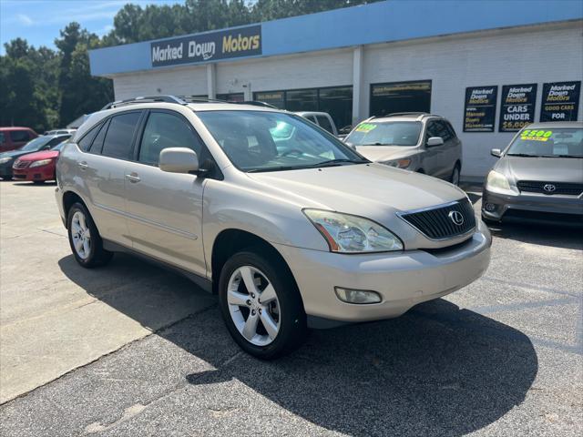
{"type": "MultiPolygon", "coordinates": [[[[431,41],[366,47],[363,65],[363,105],[368,113],[370,84],[432,79],[431,111],[447,117],[464,144],[462,174],[483,177],[496,158],[491,148],[504,148],[514,133],[497,132],[502,86],[537,83],[538,121],[545,82],[581,80],[583,26],[524,27],[431,41]],[[498,86],[496,131],[465,133],[466,86],[498,86]]],[[[579,117],[583,101],[579,104],[579,117]]]]}

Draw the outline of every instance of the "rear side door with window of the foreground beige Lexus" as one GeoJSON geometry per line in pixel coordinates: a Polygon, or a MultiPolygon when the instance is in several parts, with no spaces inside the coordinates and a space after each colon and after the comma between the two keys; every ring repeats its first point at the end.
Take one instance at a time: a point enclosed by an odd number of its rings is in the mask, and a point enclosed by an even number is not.
{"type": "Polygon", "coordinates": [[[104,239],[131,247],[126,208],[126,168],[132,155],[143,111],[128,111],[101,124],[86,154],[79,160],[91,214],[104,239]]]}

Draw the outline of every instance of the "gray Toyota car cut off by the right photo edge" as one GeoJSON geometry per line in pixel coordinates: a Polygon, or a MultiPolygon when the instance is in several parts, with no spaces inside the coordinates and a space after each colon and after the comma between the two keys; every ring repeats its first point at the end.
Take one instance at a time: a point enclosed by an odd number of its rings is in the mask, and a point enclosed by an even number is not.
{"type": "Polygon", "coordinates": [[[583,123],[524,127],[488,173],[482,217],[583,226],[583,123]]]}

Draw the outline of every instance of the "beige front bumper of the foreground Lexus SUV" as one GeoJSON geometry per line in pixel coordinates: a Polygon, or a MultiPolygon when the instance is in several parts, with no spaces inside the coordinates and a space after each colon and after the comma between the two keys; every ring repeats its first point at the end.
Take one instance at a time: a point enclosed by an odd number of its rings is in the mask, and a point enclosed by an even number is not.
{"type": "Polygon", "coordinates": [[[274,246],[292,269],[308,316],[346,322],[382,320],[459,290],[486,271],[492,239],[486,225],[477,222],[470,239],[447,249],[347,255],[274,246]],[[334,287],[373,290],[382,301],[345,303],[336,297],[334,287]]]}

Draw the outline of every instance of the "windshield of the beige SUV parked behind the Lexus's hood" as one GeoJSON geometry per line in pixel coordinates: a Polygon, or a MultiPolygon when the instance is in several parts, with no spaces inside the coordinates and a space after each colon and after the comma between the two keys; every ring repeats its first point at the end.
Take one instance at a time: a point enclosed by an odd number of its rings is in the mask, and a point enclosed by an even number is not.
{"type": "Polygon", "coordinates": [[[419,121],[364,122],[345,138],[354,146],[416,146],[422,124],[419,121]]]}

